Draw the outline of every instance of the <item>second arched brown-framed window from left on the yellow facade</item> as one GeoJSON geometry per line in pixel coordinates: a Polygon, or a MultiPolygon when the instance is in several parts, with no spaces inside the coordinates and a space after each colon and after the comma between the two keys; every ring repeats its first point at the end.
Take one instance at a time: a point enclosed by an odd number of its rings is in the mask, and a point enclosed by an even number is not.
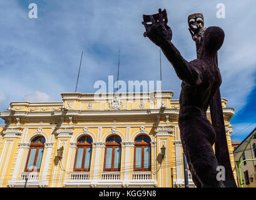
{"type": "Polygon", "coordinates": [[[92,142],[93,139],[90,136],[79,138],[74,161],[74,171],[90,171],[92,142]]]}

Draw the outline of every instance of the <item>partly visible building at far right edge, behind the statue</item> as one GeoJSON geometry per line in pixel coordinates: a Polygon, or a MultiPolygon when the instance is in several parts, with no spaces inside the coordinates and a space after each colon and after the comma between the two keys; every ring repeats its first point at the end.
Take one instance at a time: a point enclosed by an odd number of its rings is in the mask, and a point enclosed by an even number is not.
{"type": "MultiPolygon", "coordinates": [[[[252,131],[252,133],[248,134],[248,136],[238,145],[238,147],[233,151],[233,155],[235,161],[238,161],[240,158],[243,149],[248,144],[250,136],[256,132],[256,128],[252,131]]],[[[245,159],[256,159],[256,134],[253,135],[250,143],[242,154],[241,160],[245,159]]],[[[235,164],[235,168],[237,171],[237,182],[240,187],[239,181],[239,173],[238,173],[238,164],[235,164]]],[[[241,174],[243,180],[243,187],[256,187],[256,161],[245,161],[241,164],[241,174]]]]}

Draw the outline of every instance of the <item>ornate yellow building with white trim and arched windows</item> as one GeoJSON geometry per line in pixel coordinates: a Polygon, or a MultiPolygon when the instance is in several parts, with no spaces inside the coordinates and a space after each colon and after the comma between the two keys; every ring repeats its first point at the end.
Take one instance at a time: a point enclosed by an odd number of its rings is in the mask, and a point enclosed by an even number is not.
{"type": "MultiPolygon", "coordinates": [[[[172,168],[173,186],[184,187],[179,101],[172,91],[61,96],[63,102],[13,102],[0,112],[6,122],[0,128],[0,187],[24,187],[26,179],[29,187],[172,187],[172,168]]],[[[226,104],[222,98],[235,169],[234,109],[226,104]]]]}

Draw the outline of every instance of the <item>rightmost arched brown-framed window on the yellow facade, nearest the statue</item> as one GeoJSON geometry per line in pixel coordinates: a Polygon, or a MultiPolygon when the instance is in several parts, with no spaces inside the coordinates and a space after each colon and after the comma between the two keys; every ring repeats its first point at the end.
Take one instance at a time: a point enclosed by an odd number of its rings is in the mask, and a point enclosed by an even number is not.
{"type": "Polygon", "coordinates": [[[134,170],[150,171],[151,169],[150,138],[140,135],[135,139],[134,170]]]}

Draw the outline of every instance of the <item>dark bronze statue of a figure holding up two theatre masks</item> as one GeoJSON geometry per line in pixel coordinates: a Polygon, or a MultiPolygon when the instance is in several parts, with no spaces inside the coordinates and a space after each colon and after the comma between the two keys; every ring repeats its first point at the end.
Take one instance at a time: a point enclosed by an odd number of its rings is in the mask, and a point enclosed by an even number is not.
{"type": "Polygon", "coordinates": [[[202,14],[190,15],[188,24],[196,42],[197,59],[188,62],[172,44],[172,30],[167,22],[166,11],[159,9],[158,14],[143,15],[142,24],[146,28],[144,36],[161,48],[182,80],[178,123],[193,182],[197,187],[236,187],[226,134],[223,133],[219,92],[222,77],[217,66],[217,51],[223,44],[225,34],[220,27],[203,27],[202,14]],[[207,119],[209,106],[212,124],[207,119]],[[216,156],[212,148],[215,139],[216,142],[218,140],[216,156]],[[217,179],[219,165],[227,168],[225,181],[217,179]]]}

